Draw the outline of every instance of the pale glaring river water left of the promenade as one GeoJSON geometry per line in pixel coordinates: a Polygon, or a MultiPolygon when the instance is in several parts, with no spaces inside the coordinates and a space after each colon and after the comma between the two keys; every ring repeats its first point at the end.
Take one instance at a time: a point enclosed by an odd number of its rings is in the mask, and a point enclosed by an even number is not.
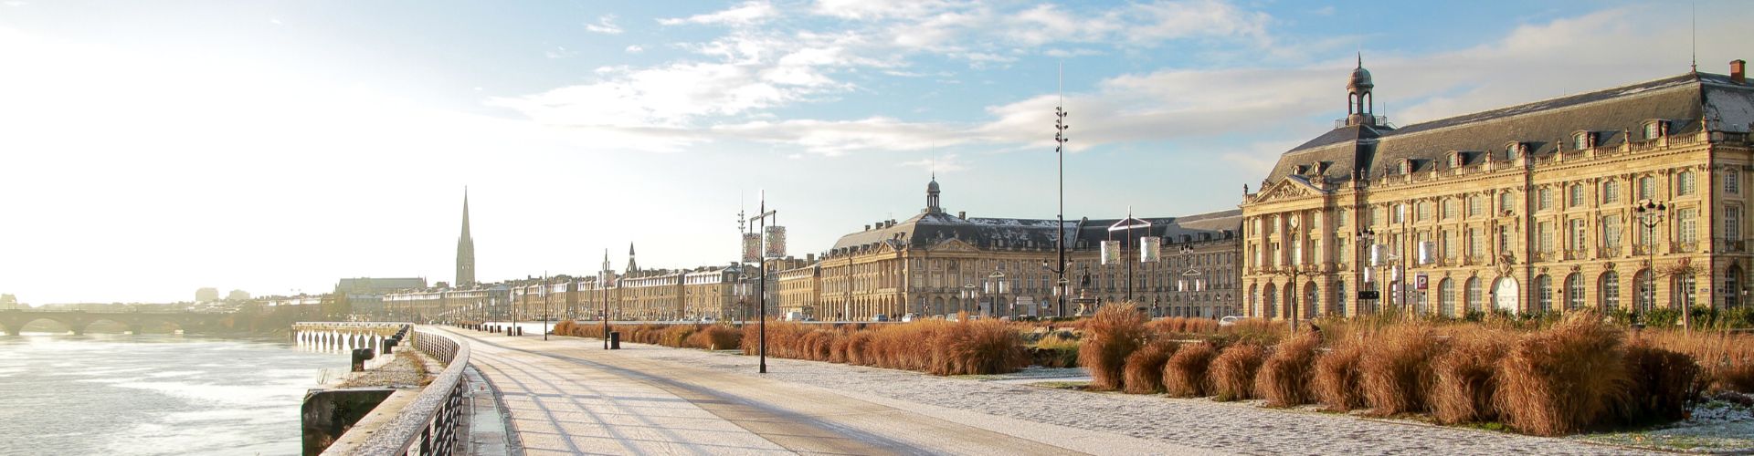
{"type": "Polygon", "coordinates": [[[0,337],[0,454],[298,454],[298,405],[347,356],[284,338],[0,337]]]}

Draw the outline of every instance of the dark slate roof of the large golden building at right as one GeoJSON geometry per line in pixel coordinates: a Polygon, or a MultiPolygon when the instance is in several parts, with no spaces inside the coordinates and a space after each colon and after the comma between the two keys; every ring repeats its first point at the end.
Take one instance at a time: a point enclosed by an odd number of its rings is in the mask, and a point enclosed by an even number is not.
{"type": "Polygon", "coordinates": [[[1505,160],[1505,146],[1521,142],[1535,158],[1572,151],[1572,133],[1596,133],[1598,147],[1619,147],[1643,139],[1643,123],[1670,121],[1670,135],[1714,132],[1747,133],[1754,123],[1754,86],[1721,74],[1684,74],[1591,93],[1463,114],[1447,119],[1389,126],[1342,126],[1286,151],[1268,182],[1287,175],[1345,181],[1400,174],[1401,160],[1414,172],[1449,168],[1449,153],[1475,165],[1505,160]],[[1631,139],[1628,139],[1631,135],[1631,139]]]}

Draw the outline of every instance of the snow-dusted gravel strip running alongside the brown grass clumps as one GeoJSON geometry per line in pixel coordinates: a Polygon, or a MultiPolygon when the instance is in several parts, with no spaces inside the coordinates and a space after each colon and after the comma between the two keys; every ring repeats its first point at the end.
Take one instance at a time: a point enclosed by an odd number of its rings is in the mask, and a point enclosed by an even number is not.
{"type": "MultiPolygon", "coordinates": [[[[758,377],[756,358],[624,344],[624,356],[758,377]]],[[[1237,454],[1638,454],[1640,449],[1566,438],[1444,428],[1249,403],[1086,393],[993,377],[768,358],[768,381],[807,384],[930,416],[996,416],[1109,431],[1237,454]]]]}

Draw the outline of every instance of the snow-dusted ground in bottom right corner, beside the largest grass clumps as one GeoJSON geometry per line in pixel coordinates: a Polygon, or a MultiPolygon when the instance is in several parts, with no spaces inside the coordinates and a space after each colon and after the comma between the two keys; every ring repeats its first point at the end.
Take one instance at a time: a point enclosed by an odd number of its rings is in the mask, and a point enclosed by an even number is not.
{"type": "Polygon", "coordinates": [[[1573,438],[1663,451],[1754,452],[1754,396],[1722,393],[1694,405],[1687,421],[1573,438]]]}

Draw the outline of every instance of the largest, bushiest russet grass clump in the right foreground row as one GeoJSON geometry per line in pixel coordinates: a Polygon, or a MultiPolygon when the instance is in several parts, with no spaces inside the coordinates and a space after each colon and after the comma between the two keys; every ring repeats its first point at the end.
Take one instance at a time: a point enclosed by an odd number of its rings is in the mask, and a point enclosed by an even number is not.
{"type": "Polygon", "coordinates": [[[1610,423],[1626,400],[1624,331],[1579,312],[1512,344],[1498,363],[1493,396],[1507,424],[1533,435],[1566,435],[1610,423]]]}

